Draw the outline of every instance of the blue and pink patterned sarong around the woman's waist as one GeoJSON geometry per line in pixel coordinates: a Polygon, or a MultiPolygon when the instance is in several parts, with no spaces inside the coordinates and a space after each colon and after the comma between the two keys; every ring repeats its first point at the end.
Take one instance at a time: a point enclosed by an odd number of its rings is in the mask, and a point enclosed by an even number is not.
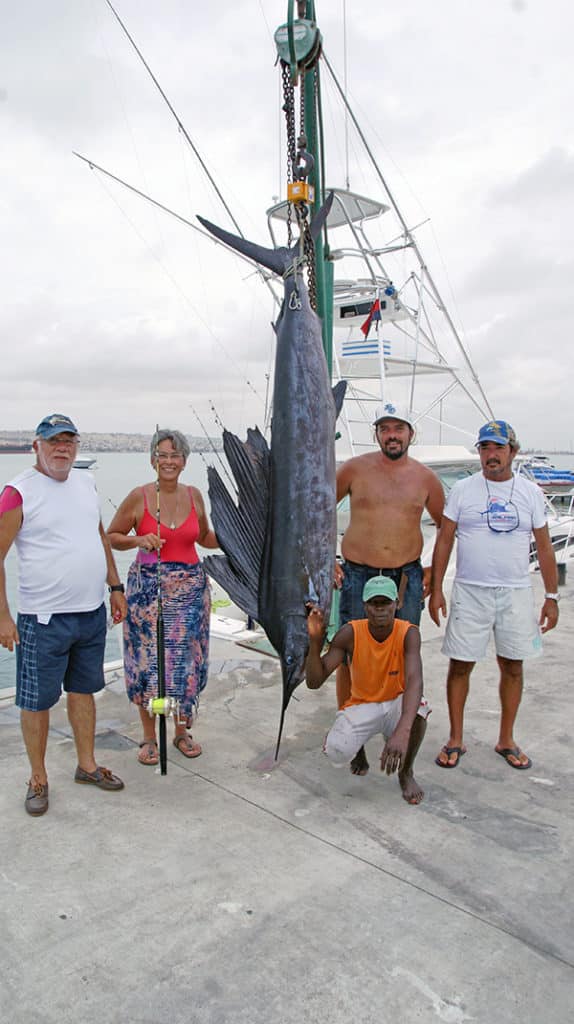
{"type": "MultiPolygon", "coordinates": [[[[166,695],[191,716],[208,681],[211,593],[201,562],[164,562],[161,566],[166,651],[166,695]]],[[[146,705],[158,695],[158,570],[130,566],[124,623],[124,673],[128,697],[146,705]]]]}

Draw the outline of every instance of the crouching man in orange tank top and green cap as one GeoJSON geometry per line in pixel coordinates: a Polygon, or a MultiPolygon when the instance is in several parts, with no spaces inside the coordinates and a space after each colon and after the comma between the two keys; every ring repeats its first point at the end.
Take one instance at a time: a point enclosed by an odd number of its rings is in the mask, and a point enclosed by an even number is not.
{"type": "Polygon", "coordinates": [[[310,606],[307,686],[318,689],[343,664],[351,672],[351,695],[338,712],[324,751],[334,764],[347,764],[382,732],[381,770],[388,775],[398,771],[403,798],[420,804],[424,792],[412,767],[431,711],[423,697],[421,634],[416,626],[395,618],[398,593],[389,577],[368,580],[362,599],[366,617],[346,623],[322,657],[324,618],[310,606]]]}

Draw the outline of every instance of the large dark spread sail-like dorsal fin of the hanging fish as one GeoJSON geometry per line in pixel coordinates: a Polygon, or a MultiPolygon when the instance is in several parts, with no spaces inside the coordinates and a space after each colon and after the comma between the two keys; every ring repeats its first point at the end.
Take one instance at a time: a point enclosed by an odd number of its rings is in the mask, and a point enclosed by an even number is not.
{"type": "Polygon", "coordinates": [[[255,428],[248,430],[246,441],[224,430],[223,450],[237,486],[237,500],[231,497],[218,471],[210,466],[212,520],[225,557],[211,555],[204,559],[204,565],[231,600],[246,614],[257,618],[258,581],[269,507],[269,447],[255,428]]]}

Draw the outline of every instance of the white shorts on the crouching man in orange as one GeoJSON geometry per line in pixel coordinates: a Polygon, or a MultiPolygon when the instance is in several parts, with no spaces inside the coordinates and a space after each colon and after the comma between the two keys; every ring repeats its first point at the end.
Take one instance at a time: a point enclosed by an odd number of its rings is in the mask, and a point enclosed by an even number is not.
{"type": "MultiPolygon", "coordinates": [[[[416,714],[426,719],[431,710],[429,702],[423,697],[416,714]]],[[[398,725],[401,712],[402,693],[394,700],[352,705],[338,712],[324,741],[323,750],[327,758],[336,765],[348,764],[357,751],[378,732],[382,732],[385,739],[388,739],[398,725]]]]}

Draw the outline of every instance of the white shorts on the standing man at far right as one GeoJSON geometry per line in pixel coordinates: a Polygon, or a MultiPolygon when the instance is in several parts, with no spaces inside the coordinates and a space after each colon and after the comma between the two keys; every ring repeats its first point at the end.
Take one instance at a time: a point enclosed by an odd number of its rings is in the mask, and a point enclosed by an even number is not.
{"type": "Polygon", "coordinates": [[[523,662],[542,653],[531,588],[454,583],[443,654],[457,662],[480,662],[492,634],[500,657],[523,662]]]}

